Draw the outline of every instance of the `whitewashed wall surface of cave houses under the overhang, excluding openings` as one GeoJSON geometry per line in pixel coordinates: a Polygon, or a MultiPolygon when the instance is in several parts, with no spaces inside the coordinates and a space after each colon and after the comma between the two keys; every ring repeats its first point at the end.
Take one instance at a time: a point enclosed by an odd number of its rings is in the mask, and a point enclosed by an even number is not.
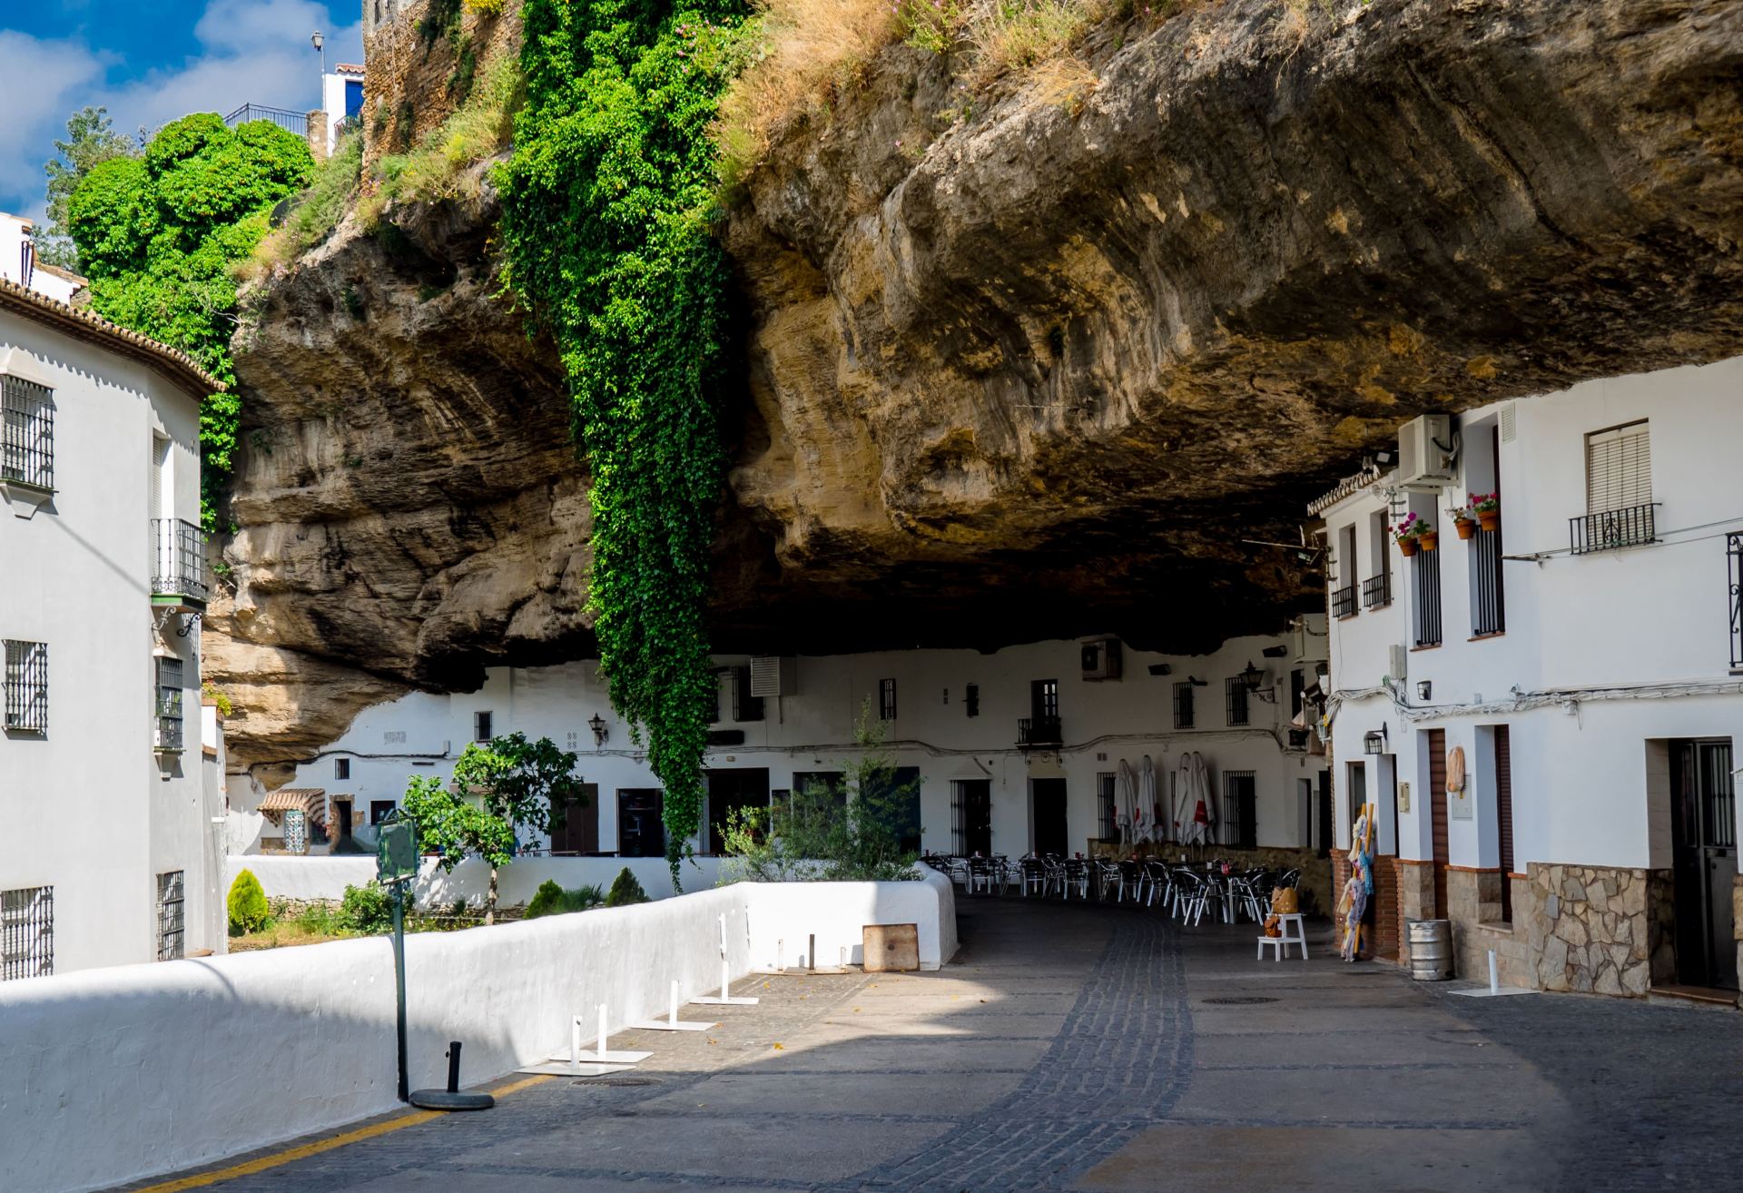
{"type": "MultiPolygon", "coordinates": [[[[716,746],[709,767],[767,767],[772,788],[791,788],[793,774],[844,769],[856,757],[852,724],[866,696],[877,706],[880,678],[898,684],[898,717],[891,748],[898,766],[919,767],[922,846],[952,849],[952,781],[992,781],[994,849],[1011,856],[1032,848],[1030,778],[1063,776],[1068,795],[1068,839],[1084,849],[1100,835],[1096,774],[1117,771],[1128,759],[1136,767],[1150,755],[1159,771],[1171,771],[1182,750],[1201,752],[1222,785],[1227,769],[1253,771],[1258,801],[1258,844],[1297,846],[1302,839],[1299,780],[1312,780],[1319,759],[1286,752],[1290,671],[1304,670],[1293,656],[1267,659],[1262,651],[1283,638],[1234,638],[1208,656],[1163,656],[1124,651],[1124,678],[1084,682],[1079,677],[1079,642],[1053,640],[978,651],[896,651],[878,654],[800,658],[798,694],[765,701],[760,722],[734,722],[730,682],[722,680],[716,729],[741,729],[746,743],[716,746]],[[1170,675],[1149,668],[1168,663],[1170,675]],[[1265,671],[1274,703],[1250,699],[1250,726],[1229,727],[1224,680],[1248,663],[1265,671]],[[1196,729],[1173,729],[1173,685],[1189,675],[1208,680],[1196,689],[1196,729]],[[1016,722],[1030,715],[1028,685],[1035,678],[1060,682],[1060,717],[1067,745],[1056,755],[1025,755],[1016,748],[1016,722]],[[980,687],[980,715],[967,717],[964,687],[980,687]]],[[[1293,647],[1290,647],[1293,649],[1293,647]]],[[[722,666],[743,665],[744,656],[720,656],[722,666]]],[[[1311,665],[1306,665],[1311,675],[1311,665]]],[[[343,794],[359,811],[373,801],[396,801],[411,774],[446,776],[472,734],[476,712],[493,713],[493,731],[549,736],[580,753],[580,769],[600,785],[600,848],[617,848],[617,790],[659,787],[645,755],[633,748],[615,717],[594,663],[549,668],[493,668],[485,687],[471,694],[410,694],[364,710],[350,731],[321,757],[298,767],[293,787],[322,787],[343,794]],[[591,717],[610,727],[603,748],[587,729],[591,717]],[[335,778],[335,762],[347,759],[350,778],[335,778]]],[[[248,821],[263,792],[248,776],[232,780],[234,841],[258,851],[258,823],[248,821]]]]}

